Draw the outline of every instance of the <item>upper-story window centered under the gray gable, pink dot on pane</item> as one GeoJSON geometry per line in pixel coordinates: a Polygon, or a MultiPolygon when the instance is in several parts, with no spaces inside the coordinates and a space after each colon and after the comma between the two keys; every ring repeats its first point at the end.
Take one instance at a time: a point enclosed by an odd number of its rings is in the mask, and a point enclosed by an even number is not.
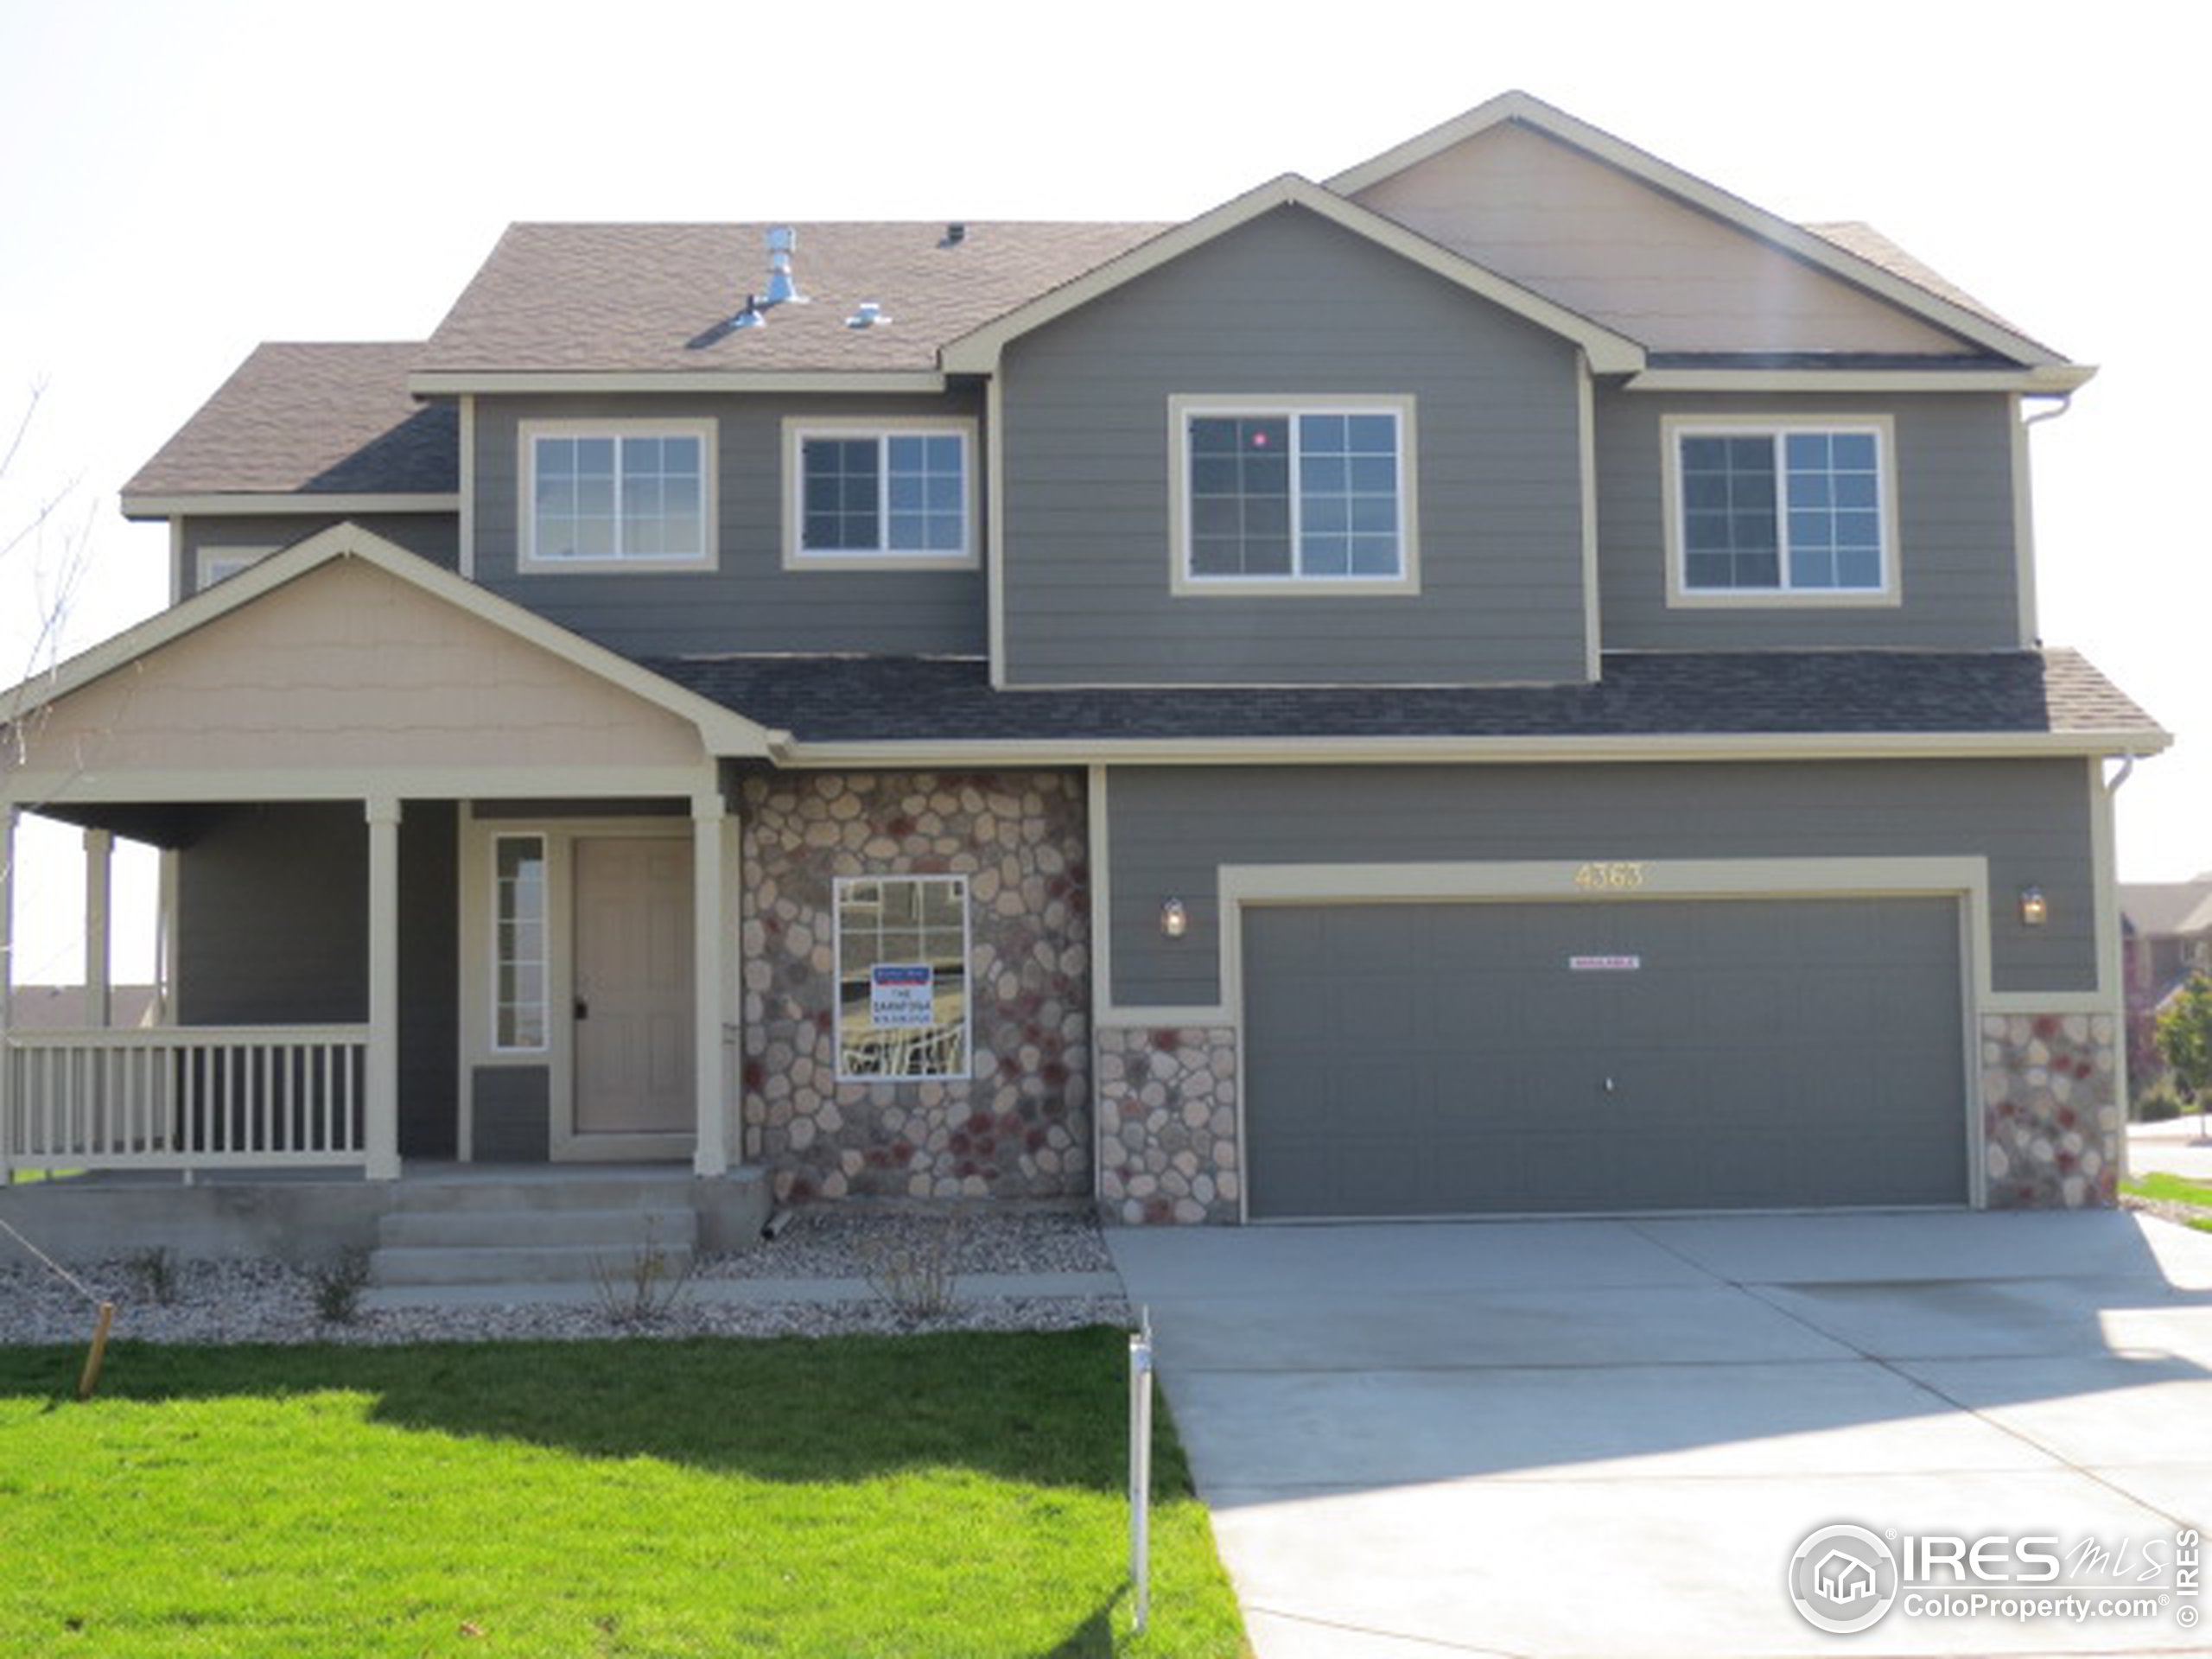
{"type": "Polygon", "coordinates": [[[1413,400],[1170,398],[1177,593],[1407,593],[1413,400]]]}

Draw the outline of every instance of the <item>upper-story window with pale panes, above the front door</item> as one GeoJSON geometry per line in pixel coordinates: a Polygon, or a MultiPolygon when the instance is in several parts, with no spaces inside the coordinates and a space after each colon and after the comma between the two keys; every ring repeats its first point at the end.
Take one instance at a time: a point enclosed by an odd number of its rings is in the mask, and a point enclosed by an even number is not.
{"type": "Polygon", "coordinates": [[[714,422],[526,420],[522,566],[712,564],[714,422]]]}

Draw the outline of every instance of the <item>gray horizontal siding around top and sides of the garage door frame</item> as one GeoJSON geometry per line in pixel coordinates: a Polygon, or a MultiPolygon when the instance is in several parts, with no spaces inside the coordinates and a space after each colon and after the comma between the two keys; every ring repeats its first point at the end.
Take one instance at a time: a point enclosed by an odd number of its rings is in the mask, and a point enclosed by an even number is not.
{"type": "Polygon", "coordinates": [[[1217,869],[1237,863],[1986,856],[1997,991],[2097,982],[2081,761],[1849,761],[1524,768],[1115,768],[1113,995],[1219,1000],[1217,869]],[[2022,927],[2020,887],[2051,898],[2022,927]],[[1181,940],[1159,905],[1190,909],[1181,940]]]}

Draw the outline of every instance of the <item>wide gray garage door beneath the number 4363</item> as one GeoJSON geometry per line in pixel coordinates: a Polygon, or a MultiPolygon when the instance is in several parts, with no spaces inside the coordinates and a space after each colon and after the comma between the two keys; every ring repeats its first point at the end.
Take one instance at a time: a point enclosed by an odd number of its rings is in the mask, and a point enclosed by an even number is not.
{"type": "Polygon", "coordinates": [[[1245,911],[1254,1217],[1964,1203],[1951,900],[1245,911]]]}

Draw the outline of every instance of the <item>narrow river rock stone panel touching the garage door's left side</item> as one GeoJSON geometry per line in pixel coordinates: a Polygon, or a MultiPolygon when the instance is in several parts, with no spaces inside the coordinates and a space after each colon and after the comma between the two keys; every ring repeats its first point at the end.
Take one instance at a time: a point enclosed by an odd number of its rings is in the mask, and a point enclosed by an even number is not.
{"type": "Polygon", "coordinates": [[[1130,1225],[1237,1221],[1237,1033],[1102,1026],[1099,1199],[1130,1225]]]}

